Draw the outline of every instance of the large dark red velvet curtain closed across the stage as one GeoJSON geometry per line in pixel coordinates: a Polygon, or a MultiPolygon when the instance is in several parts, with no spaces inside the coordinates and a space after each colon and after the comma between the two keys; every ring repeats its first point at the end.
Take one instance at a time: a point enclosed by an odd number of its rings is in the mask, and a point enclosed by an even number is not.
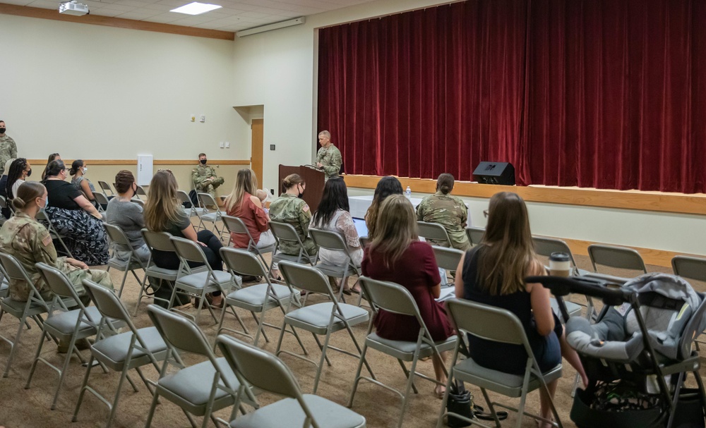
{"type": "Polygon", "coordinates": [[[348,173],[706,190],[702,0],[465,1],[319,32],[348,173]]]}

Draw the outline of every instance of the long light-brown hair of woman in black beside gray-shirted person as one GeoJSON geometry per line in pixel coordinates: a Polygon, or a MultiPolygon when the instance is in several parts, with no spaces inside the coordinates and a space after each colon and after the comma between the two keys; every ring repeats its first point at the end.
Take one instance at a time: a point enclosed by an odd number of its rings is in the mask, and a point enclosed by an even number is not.
{"type": "Polygon", "coordinates": [[[145,226],[150,231],[162,232],[170,223],[176,223],[181,212],[177,197],[177,179],[169,171],[157,171],[150,182],[150,194],[145,202],[145,226]]]}

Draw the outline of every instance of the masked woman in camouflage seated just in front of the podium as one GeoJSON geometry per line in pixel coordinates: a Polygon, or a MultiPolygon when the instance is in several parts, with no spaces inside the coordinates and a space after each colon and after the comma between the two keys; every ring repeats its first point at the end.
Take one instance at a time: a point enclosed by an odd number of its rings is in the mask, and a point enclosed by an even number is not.
{"type": "MultiPolygon", "coordinates": [[[[270,204],[270,220],[280,221],[282,223],[291,224],[294,230],[297,231],[301,244],[304,245],[304,250],[308,255],[316,255],[316,245],[309,236],[309,223],[311,222],[311,209],[309,205],[301,199],[306,189],[306,183],[299,174],[289,174],[282,180],[282,187],[285,192],[270,204]]],[[[280,243],[277,248],[280,252],[287,255],[299,255],[299,245],[296,243],[284,242],[280,243]]],[[[275,267],[273,267],[275,269],[275,267]]]]}

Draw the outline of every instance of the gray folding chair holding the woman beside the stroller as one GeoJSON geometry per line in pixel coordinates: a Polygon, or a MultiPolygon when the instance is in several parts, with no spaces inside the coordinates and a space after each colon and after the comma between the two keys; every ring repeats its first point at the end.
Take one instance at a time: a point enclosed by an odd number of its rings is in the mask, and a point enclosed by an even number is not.
{"type": "MultiPolygon", "coordinates": [[[[443,417],[450,415],[450,413],[446,412],[446,402],[448,401],[452,379],[479,386],[486,403],[488,403],[491,415],[493,415],[496,427],[500,427],[500,420],[498,420],[498,415],[495,411],[496,405],[517,412],[517,422],[515,423],[515,427],[517,428],[522,426],[522,415],[533,417],[538,421],[549,422],[555,427],[562,427],[561,420],[554,407],[554,401],[550,400],[551,412],[554,414],[554,422],[525,412],[527,393],[542,388],[544,392],[549,395],[546,384],[561,377],[561,364],[544,374],[539,370],[539,365],[537,364],[537,360],[534,359],[532,347],[527,340],[527,334],[525,334],[525,329],[522,327],[520,319],[517,319],[517,316],[508,310],[461,299],[448,300],[446,302],[446,311],[455,326],[457,340],[451,360],[451,373],[446,382],[446,392],[444,393],[441,403],[441,415],[436,422],[436,427],[441,428],[443,417]],[[484,338],[488,341],[523,346],[525,352],[527,352],[525,374],[520,376],[486,369],[474,362],[472,358],[458,362],[458,354],[460,352],[466,353],[466,346],[463,341],[465,334],[472,334],[473,336],[484,338]],[[500,393],[511,398],[519,397],[519,409],[491,402],[486,390],[500,393]]],[[[486,424],[481,424],[477,419],[468,419],[457,413],[452,413],[451,415],[454,415],[458,419],[465,420],[466,422],[490,428],[486,424]]]]}

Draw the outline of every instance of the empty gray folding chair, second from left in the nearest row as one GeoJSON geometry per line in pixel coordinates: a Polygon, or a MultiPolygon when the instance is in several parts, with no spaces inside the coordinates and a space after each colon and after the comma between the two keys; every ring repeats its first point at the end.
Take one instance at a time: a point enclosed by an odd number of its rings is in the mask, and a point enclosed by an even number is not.
{"type": "MultiPolygon", "coordinates": [[[[30,375],[27,378],[27,384],[25,384],[25,389],[30,388],[32,376],[35,374],[35,369],[37,368],[37,362],[43,362],[54,369],[54,371],[59,373],[59,384],[56,385],[54,401],[52,401],[52,410],[54,410],[56,408],[56,401],[59,399],[61,385],[64,384],[68,363],[71,362],[71,354],[75,353],[80,362],[85,362],[78,348],[76,348],[76,343],[90,336],[95,336],[102,315],[97,307],[86,307],[83,304],[83,300],[78,296],[76,289],[73,288],[73,284],[66,278],[64,272],[44,263],[37,263],[35,266],[39,269],[49,289],[54,293],[54,299],[49,304],[49,308],[52,311],[58,310],[50,314],[49,318],[44,321],[42,325],[42,337],[53,337],[58,340],[59,343],[68,342],[68,352],[64,358],[64,365],[61,368],[56,367],[49,362],[49,360],[41,356],[44,341],[40,341],[39,346],[37,346],[35,359],[32,362],[30,375]],[[78,309],[69,310],[69,306],[66,305],[66,302],[70,302],[71,307],[78,305],[78,309]]],[[[120,324],[114,325],[116,328],[120,326],[120,324]]]]}

